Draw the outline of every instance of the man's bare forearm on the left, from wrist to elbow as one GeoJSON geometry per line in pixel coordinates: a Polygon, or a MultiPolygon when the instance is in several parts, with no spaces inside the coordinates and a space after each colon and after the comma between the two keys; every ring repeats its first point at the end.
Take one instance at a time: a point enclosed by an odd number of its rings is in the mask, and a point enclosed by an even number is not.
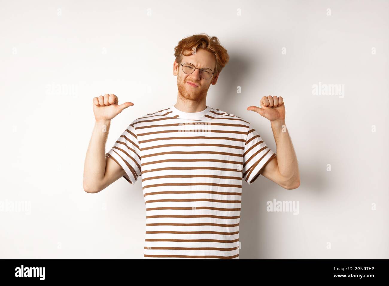
{"type": "Polygon", "coordinates": [[[86,152],[84,164],[84,189],[95,191],[105,174],[105,142],[107,141],[110,120],[96,121],[86,152]]]}

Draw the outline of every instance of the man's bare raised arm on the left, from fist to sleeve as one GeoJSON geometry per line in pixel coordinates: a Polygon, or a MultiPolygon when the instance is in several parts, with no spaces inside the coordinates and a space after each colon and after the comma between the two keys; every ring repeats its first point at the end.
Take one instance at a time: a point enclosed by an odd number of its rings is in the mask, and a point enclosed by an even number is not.
{"type": "Polygon", "coordinates": [[[86,152],[83,177],[83,187],[87,193],[98,193],[124,175],[120,165],[105,157],[105,142],[111,119],[127,107],[134,105],[132,102],[117,105],[118,102],[114,94],[93,98],[93,113],[96,121],[86,152]]]}

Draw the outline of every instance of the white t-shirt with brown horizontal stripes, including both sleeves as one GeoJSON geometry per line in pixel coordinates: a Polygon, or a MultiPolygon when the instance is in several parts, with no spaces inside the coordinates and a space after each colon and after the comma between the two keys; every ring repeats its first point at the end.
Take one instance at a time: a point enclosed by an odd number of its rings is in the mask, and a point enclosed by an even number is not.
{"type": "Polygon", "coordinates": [[[142,175],[145,259],[239,259],[242,177],[275,153],[234,114],[172,105],[135,119],[106,155],[131,184],[142,175]]]}

